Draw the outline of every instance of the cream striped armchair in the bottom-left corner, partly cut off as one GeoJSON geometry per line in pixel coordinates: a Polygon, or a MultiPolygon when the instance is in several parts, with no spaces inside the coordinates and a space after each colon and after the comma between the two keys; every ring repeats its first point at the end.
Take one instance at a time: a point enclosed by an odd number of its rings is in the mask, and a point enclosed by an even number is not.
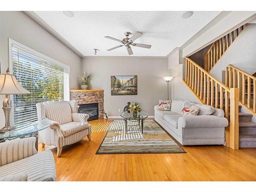
{"type": "Polygon", "coordinates": [[[37,153],[35,137],[0,143],[0,181],[56,181],[53,154],[37,153]]]}

